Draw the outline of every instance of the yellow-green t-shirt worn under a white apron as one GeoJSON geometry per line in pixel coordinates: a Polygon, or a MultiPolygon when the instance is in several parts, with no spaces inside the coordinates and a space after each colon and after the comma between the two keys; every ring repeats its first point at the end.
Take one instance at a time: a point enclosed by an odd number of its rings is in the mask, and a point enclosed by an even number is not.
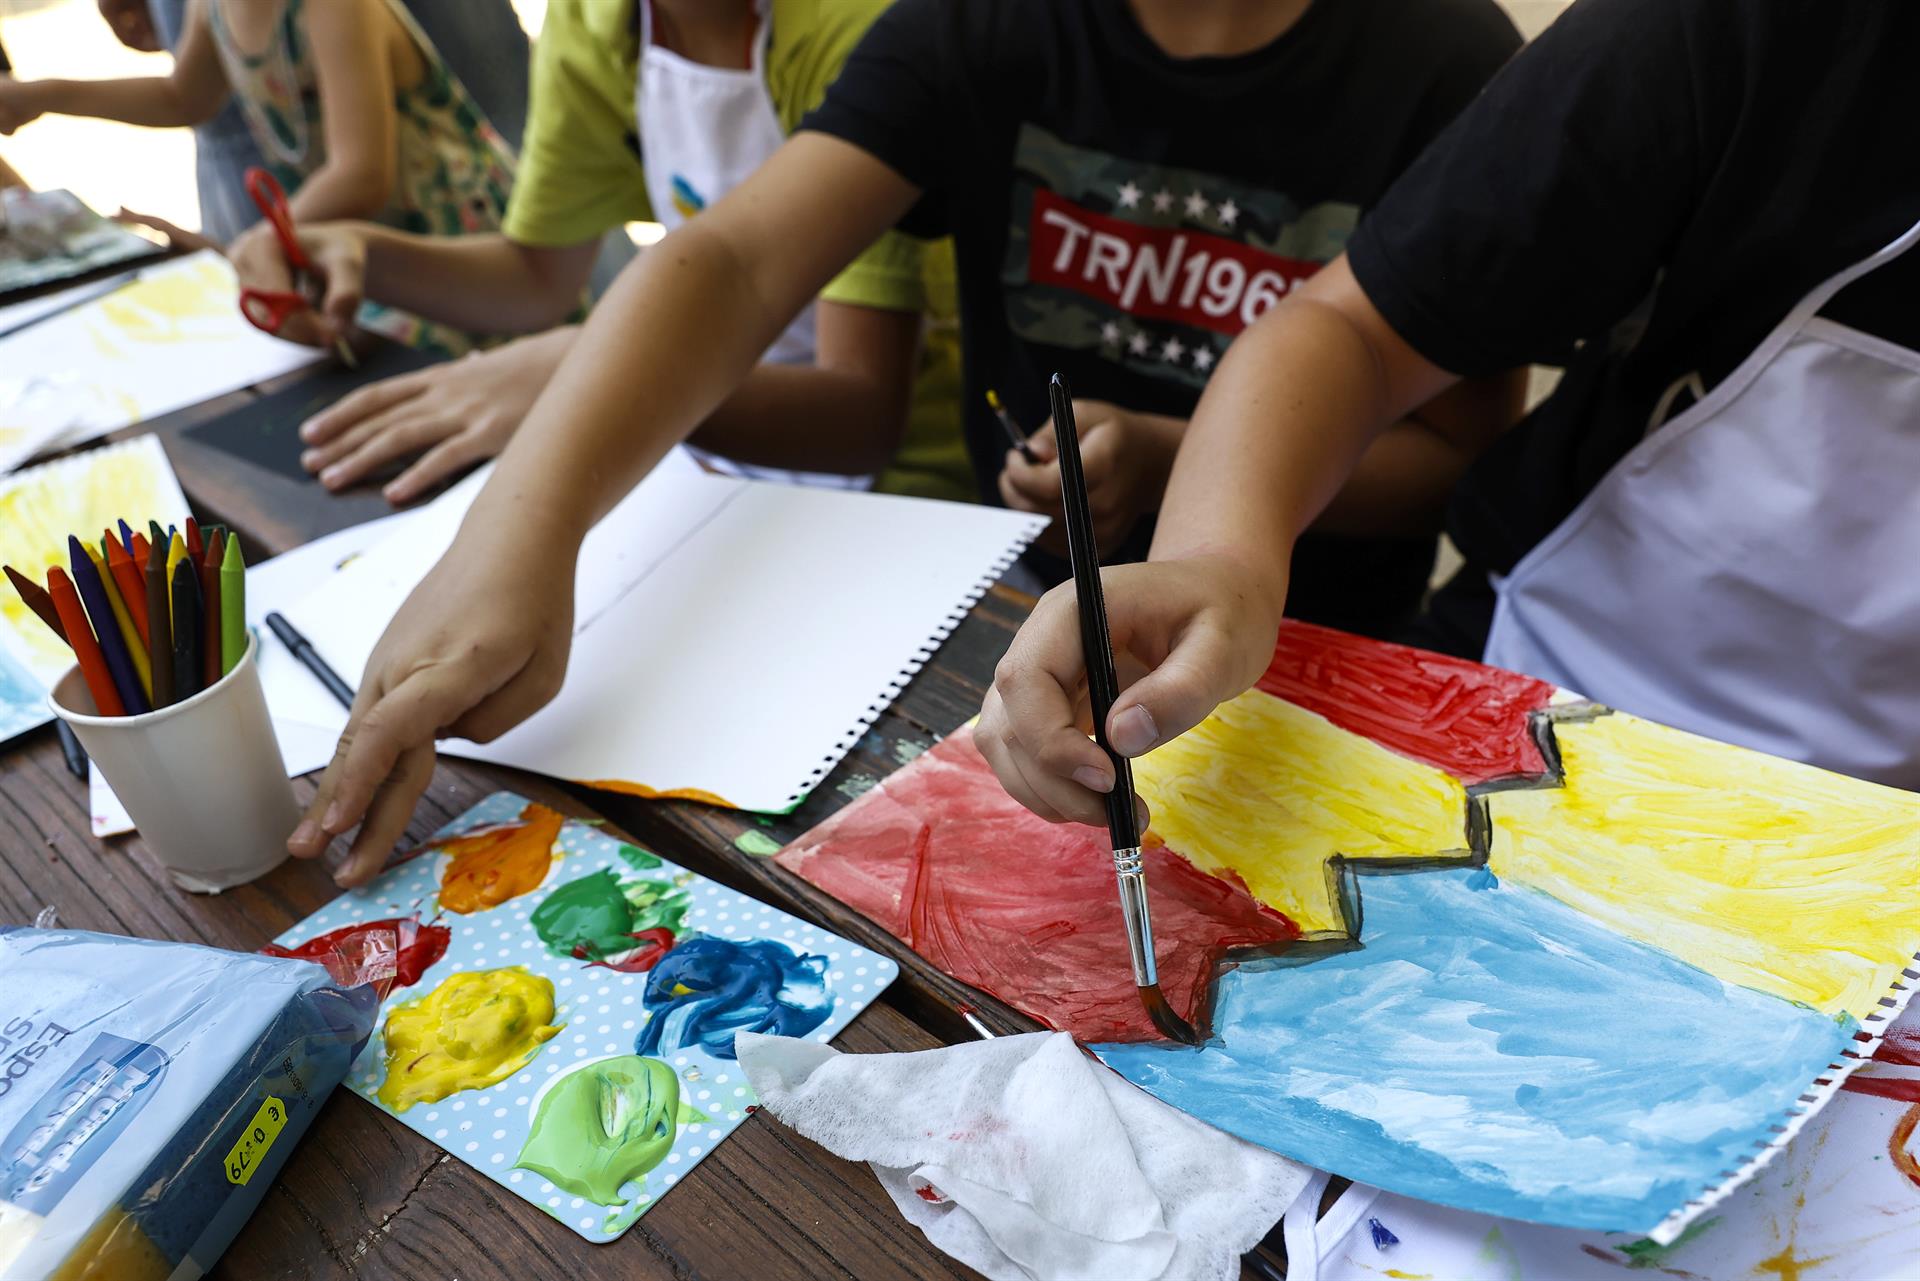
{"type": "MultiPolygon", "coordinates": [[[[787,133],[814,109],[887,0],[772,0],[766,88],[787,133]]],[[[634,0],[549,0],[534,42],[520,171],[503,230],[563,248],[651,221],[634,88],[639,35],[634,0]]],[[[960,332],[950,242],[904,232],[876,240],[820,294],[829,302],[927,317],[906,436],[877,488],[975,497],[960,436],[960,332]]]]}

